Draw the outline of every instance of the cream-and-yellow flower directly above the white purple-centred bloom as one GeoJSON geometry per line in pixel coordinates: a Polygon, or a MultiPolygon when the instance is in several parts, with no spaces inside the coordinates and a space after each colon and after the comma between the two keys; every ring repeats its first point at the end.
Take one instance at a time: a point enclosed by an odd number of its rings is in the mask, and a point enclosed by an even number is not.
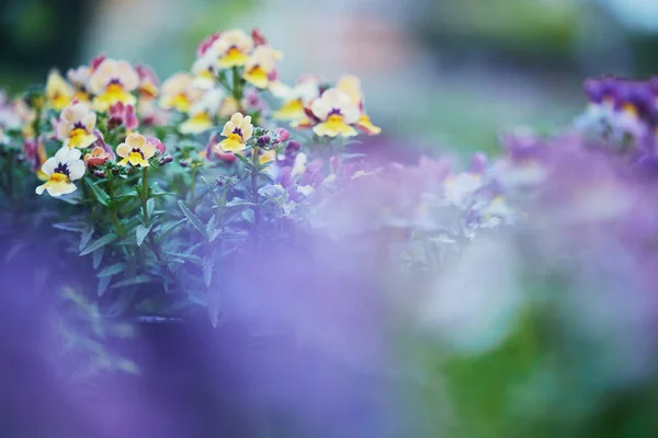
{"type": "Polygon", "coordinates": [[[73,103],[61,112],[56,125],[57,139],[67,148],[88,148],[95,140],[93,135],[97,115],[84,102],[73,103]]]}

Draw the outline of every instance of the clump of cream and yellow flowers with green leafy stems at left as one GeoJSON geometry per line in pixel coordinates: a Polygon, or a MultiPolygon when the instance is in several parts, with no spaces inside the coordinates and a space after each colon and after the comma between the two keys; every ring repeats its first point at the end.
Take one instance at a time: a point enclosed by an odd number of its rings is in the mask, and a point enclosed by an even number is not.
{"type": "Polygon", "coordinates": [[[213,34],[196,55],[162,83],[100,55],[2,97],[7,223],[48,210],[49,226],[70,232],[57,238],[66,251],[91,258],[83,270],[112,314],[203,304],[216,320],[211,291],[230,254],[293,239],[286,223],[308,218],[325,158],[342,161],[347,139],[379,132],[355,77],[286,87],[283,55],[258,30],[213,34]]]}

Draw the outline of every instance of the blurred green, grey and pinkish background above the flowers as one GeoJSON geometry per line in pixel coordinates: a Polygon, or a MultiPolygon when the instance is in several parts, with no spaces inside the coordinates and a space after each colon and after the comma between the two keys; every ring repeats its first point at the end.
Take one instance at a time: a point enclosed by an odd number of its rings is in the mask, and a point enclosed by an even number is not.
{"type": "Polygon", "coordinates": [[[282,76],[364,80],[372,117],[421,148],[495,151],[501,129],[551,129],[582,80],[658,71],[654,0],[3,0],[0,83],[20,90],[99,51],[188,69],[198,42],[259,26],[282,76]]]}

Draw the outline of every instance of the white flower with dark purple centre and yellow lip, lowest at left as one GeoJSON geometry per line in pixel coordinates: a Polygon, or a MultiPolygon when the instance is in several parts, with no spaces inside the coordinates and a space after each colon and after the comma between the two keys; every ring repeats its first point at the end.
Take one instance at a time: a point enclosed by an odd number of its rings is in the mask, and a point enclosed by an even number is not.
{"type": "Polygon", "coordinates": [[[61,196],[76,191],[73,181],[84,176],[84,162],[80,160],[78,149],[61,148],[46,160],[42,166],[42,172],[48,176],[48,181],[38,187],[35,192],[37,195],[48,191],[50,196],[61,196]]]}

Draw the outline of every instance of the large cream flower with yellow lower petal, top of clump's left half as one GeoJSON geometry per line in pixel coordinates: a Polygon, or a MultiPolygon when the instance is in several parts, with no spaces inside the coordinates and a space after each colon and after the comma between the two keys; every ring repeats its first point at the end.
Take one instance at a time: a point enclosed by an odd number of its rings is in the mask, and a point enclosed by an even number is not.
{"type": "Polygon", "coordinates": [[[89,87],[95,99],[94,106],[105,111],[117,102],[135,105],[132,94],[139,87],[139,76],[128,61],[106,58],[89,78],[89,87]]]}

